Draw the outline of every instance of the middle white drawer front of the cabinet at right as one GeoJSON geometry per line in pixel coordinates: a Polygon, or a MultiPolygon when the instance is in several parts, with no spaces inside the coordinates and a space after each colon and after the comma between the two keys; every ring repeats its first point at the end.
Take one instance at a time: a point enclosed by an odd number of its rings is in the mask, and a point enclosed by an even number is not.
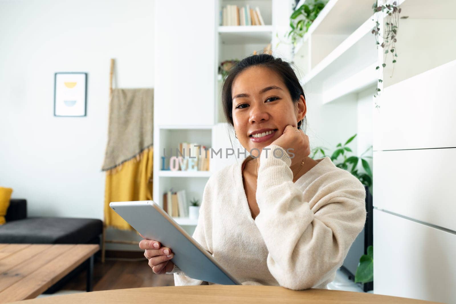
{"type": "Polygon", "coordinates": [[[373,206],[456,231],[455,159],[456,149],[374,151],[373,206]]]}

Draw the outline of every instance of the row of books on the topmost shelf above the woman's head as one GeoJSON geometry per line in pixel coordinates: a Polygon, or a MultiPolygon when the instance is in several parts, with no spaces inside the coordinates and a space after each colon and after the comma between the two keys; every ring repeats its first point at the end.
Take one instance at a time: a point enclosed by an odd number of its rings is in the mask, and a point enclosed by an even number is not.
{"type": "Polygon", "coordinates": [[[220,11],[222,26],[264,26],[263,17],[257,6],[251,9],[249,5],[226,5],[220,11]]]}

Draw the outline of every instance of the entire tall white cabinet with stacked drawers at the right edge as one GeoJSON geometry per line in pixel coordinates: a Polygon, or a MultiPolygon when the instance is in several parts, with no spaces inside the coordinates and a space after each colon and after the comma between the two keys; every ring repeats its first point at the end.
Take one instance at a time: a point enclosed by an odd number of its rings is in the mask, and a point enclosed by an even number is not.
{"type": "Polygon", "coordinates": [[[399,20],[394,73],[390,60],[380,67],[373,116],[374,293],[452,303],[456,1],[399,2],[408,18],[399,20]],[[413,257],[401,263],[405,252],[413,257]]]}

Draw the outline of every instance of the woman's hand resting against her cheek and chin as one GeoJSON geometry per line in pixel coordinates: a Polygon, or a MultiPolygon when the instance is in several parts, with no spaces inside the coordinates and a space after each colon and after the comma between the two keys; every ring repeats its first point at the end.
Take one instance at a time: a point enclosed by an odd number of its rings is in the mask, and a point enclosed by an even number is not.
{"type": "Polygon", "coordinates": [[[288,152],[292,157],[291,165],[301,164],[301,161],[311,154],[309,136],[290,124],[285,127],[284,133],[271,144],[276,144],[288,152]],[[294,153],[294,156],[291,153],[294,153]]]}

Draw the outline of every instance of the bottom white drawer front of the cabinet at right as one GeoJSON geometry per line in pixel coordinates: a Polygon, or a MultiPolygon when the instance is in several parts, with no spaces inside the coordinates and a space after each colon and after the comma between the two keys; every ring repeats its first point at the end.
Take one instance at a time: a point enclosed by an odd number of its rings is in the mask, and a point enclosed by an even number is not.
{"type": "Polygon", "coordinates": [[[455,303],[456,235],[373,211],[374,293],[455,303]]]}

